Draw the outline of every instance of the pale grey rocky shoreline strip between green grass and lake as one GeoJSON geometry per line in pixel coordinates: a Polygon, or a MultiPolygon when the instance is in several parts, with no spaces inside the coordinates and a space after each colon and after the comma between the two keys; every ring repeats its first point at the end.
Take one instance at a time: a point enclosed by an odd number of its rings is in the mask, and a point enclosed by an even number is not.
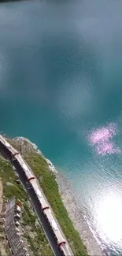
{"type": "MultiPolygon", "coordinates": [[[[38,154],[41,154],[43,156],[42,152],[38,149],[35,143],[31,143],[29,139],[26,139],[24,137],[17,137],[13,140],[14,141],[17,140],[17,142],[20,142],[23,145],[24,145],[24,142],[28,143],[29,150],[35,150],[36,152],[38,152],[38,154]]],[[[43,156],[43,158],[45,157],[43,156]]],[[[60,172],[57,171],[57,169],[55,169],[52,162],[47,158],[45,159],[49,166],[50,171],[55,173],[62,201],[64,202],[65,208],[68,211],[68,215],[72,220],[72,223],[76,227],[76,230],[79,232],[79,235],[83,240],[83,243],[87,247],[88,254],[90,254],[91,256],[104,255],[102,253],[101,248],[99,247],[97,240],[94,238],[94,235],[91,232],[91,229],[87,224],[87,221],[85,221],[82,206],[81,204],[79,205],[79,202],[76,200],[75,196],[73,195],[70,184],[66,180],[65,176],[63,176],[60,172]]]]}

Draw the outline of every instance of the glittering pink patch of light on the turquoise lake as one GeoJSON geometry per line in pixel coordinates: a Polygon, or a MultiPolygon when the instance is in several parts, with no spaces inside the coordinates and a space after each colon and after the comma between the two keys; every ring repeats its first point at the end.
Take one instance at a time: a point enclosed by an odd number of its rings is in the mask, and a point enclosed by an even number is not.
{"type": "Polygon", "coordinates": [[[113,143],[113,136],[116,135],[116,124],[109,124],[106,127],[98,128],[91,132],[89,140],[96,146],[98,154],[117,154],[120,149],[113,143]]]}

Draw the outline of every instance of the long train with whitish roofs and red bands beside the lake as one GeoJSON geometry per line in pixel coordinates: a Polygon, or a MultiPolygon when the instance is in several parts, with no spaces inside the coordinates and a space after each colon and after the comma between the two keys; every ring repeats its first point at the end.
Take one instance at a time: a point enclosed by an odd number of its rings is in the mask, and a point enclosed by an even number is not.
{"type": "MultiPolygon", "coordinates": [[[[53,211],[50,209],[50,204],[46,199],[46,196],[43,194],[43,191],[40,189],[38,181],[29,168],[28,164],[21,157],[20,153],[15,150],[2,135],[0,135],[0,148],[2,146],[2,154],[8,158],[14,166],[14,161],[21,166],[23,169],[24,175],[28,180],[28,184],[32,187],[36,198],[38,199],[40,210],[43,213],[43,216],[46,220],[47,227],[49,228],[54,242],[57,245],[60,255],[62,256],[73,256],[71,248],[68,245],[68,242],[65,239],[63,232],[61,231],[60,225],[57,222],[56,217],[54,217],[53,211]]],[[[0,150],[1,151],[1,150],[0,150]]]]}

